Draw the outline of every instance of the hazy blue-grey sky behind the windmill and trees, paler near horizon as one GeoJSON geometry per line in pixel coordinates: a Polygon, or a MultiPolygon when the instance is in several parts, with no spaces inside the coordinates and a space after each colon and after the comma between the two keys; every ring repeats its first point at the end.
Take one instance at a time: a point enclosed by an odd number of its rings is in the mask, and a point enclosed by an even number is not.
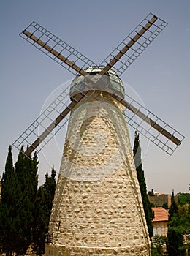
{"type": "MultiPolygon", "coordinates": [[[[129,85],[126,89],[134,90],[146,108],[186,136],[171,157],[140,137],[148,189],[166,193],[172,189],[188,191],[189,0],[1,0],[0,175],[9,145],[39,116],[52,92],[73,78],[66,69],[21,39],[20,31],[35,20],[99,64],[149,12],[169,24],[121,78],[129,85]]],[[[51,166],[58,172],[64,133],[59,132],[54,145],[50,143],[39,155],[41,183],[51,166]]],[[[134,130],[131,136],[133,141],[134,130]]],[[[13,153],[16,161],[18,151],[14,149],[13,153]]]]}

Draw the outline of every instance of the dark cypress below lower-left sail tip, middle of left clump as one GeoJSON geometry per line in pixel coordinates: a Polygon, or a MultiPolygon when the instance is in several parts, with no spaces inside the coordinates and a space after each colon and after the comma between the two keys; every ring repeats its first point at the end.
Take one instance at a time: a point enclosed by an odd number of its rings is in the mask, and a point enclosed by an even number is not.
{"type": "Polygon", "coordinates": [[[37,199],[37,154],[33,159],[23,154],[23,147],[18,154],[18,160],[15,163],[15,175],[21,189],[20,207],[17,209],[18,219],[21,225],[19,227],[18,242],[20,246],[15,249],[18,254],[26,252],[29,244],[33,241],[34,230],[34,210],[37,199]]]}

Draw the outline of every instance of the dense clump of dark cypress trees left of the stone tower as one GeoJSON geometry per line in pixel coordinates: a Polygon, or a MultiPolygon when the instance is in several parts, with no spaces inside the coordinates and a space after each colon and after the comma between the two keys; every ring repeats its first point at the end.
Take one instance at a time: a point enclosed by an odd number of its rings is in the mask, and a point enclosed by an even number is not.
{"type": "Polygon", "coordinates": [[[39,255],[44,249],[56,172],[53,169],[50,177],[46,174],[45,184],[38,189],[37,165],[37,154],[26,157],[22,147],[14,167],[9,146],[0,200],[0,252],[6,256],[23,255],[31,243],[37,244],[39,255]]]}

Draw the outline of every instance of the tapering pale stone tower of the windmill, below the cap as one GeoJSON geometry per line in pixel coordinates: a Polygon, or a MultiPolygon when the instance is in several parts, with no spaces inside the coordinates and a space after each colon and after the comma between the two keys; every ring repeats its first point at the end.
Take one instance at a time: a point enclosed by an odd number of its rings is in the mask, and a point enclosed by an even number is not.
{"type": "Polygon", "coordinates": [[[72,111],[49,235],[46,256],[151,255],[126,119],[107,93],[72,111]]]}

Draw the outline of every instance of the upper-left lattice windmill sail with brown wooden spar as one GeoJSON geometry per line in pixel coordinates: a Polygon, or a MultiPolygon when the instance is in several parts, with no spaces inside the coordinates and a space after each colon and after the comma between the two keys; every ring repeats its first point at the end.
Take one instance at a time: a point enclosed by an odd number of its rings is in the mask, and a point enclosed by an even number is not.
{"type": "Polygon", "coordinates": [[[27,42],[30,42],[31,45],[34,45],[73,75],[78,73],[85,75],[83,69],[96,66],[93,61],[36,22],[32,22],[22,31],[20,37],[26,39],[27,42]]]}

